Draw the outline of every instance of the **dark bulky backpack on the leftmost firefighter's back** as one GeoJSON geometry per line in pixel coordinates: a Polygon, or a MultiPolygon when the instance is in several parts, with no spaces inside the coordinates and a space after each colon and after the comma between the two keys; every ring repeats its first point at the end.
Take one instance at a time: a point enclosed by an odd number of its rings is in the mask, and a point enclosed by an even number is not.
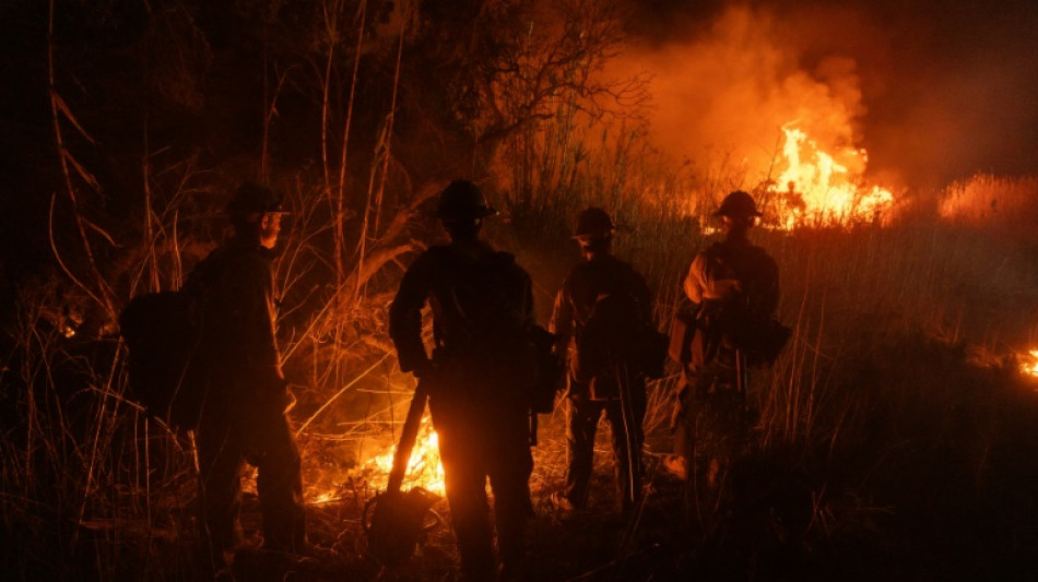
{"type": "Polygon", "coordinates": [[[192,366],[201,338],[202,286],[144,293],[119,313],[128,352],[127,387],[149,416],[191,429],[201,412],[203,381],[192,366]]]}

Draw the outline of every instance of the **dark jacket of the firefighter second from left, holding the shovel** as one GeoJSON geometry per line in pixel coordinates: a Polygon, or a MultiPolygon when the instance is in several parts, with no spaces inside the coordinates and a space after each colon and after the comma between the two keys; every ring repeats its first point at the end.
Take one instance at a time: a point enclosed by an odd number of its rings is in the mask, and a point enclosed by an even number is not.
{"type": "Polygon", "coordinates": [[[408,269],[390,307],[389,333],[400,368],[417,376],[436,368],[443,379],[430,397],[523,408],[533,378],[530,276],[506,252],[483,241],[432,247],[408,269]],[[433,312],[432,357],[422,341],[422,307],[433,312]],[[493,385],[493,388],[489,387],[493,385]],[[481,389],[485,389],[482,390],[481,389]]]}

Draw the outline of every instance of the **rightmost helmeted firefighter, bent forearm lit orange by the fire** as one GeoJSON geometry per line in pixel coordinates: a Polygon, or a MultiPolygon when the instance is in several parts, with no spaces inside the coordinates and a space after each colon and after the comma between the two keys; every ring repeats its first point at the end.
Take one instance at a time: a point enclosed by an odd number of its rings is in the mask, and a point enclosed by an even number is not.
{"type": "MultiPolygon", "coordinates": [[[[754,361],[727,340],[742,314],[769,318],[778,307],[778,265],[751,244],[760,212],[741,190],[728,194],[715,213],[724,238],[699,252],[684,280],[695,321],[691,348],[682,358],[674,414],[675,455],[667,467],[696,488],[700,502],[717,499],[730,462],[745,446],[752,412],[746,399],[747,367],[754,361]]],[[[691,489],[693,490],[693,489],[691,489]]]]}

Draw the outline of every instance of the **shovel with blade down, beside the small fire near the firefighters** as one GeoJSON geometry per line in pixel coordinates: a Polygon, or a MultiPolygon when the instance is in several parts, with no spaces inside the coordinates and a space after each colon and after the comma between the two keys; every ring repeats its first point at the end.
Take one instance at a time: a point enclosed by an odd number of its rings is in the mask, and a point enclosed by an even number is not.
{"type": "Polygon", "coordinates": [[[400,490],[408,473],[411,451],[414,449],[428,400],[427,381],[418,381],[403,423],[400,442],[393,453],[393,467],[389,473],[386,491],[376,495],[364,507],[361,524],[367,536],[367,551],[384,566],[397,566],[414,554],[422,535],[432,525],[426,525],[429,509],[439,497],[423,487],[406,492],[400,490]]]}

